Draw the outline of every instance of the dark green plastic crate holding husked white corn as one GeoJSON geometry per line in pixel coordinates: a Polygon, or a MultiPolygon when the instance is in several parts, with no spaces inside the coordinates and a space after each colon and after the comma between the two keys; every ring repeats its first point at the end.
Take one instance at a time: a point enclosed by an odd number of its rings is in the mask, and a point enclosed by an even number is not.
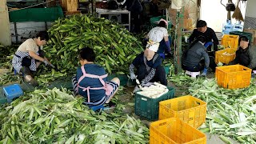
{"type": "Polygon", "coordinates": [[[135,94],[135,114],[150,121],[158,120],[159,102],[174,98],[174,88],[167,86],[168,92],[158,98],[135,94]]]}

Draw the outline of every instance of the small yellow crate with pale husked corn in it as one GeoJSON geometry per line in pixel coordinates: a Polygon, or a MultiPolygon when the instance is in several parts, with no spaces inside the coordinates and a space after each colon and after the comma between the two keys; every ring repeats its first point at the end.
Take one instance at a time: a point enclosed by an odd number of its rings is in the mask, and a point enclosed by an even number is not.
{"type": "Polygon", "coordinates": [[[225,50],[218,50],[215,53],[215,62],[222,62],[228,64],[229,62],[233,61],[235,58],[236,49],[225,49],[225,50]]]}

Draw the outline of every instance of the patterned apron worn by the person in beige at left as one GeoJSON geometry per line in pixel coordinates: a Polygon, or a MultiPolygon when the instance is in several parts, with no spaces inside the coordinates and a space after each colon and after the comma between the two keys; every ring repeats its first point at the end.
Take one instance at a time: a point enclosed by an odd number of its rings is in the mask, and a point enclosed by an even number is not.
{"type": "Polygon", "coordinates": [[[14,69],[18,73],[20,72],[22,66],[27,66],[30,68],[30,70],[33,70],[33,71],[37,70],[37,65],[35,63],[35,60],[34,58],[30,58],[29,52],[22,52],[19,50],[17,50],[16,53],[14,54],[14,58],[12,60],[12,66],[14,66],[14,69]],[[28,63],[30,63],[30,66],[27,66],[28,63]]]}

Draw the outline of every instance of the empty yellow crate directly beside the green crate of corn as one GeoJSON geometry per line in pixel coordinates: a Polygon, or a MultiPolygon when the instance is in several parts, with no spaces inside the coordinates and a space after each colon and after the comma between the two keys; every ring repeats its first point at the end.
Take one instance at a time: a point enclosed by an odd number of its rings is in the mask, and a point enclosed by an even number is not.
{"type": "Polygon", "coordinates": [[[159,119],[180,118],[195,128],[206,122],[206,102],[191,95],[159,102],[159,119]]]}

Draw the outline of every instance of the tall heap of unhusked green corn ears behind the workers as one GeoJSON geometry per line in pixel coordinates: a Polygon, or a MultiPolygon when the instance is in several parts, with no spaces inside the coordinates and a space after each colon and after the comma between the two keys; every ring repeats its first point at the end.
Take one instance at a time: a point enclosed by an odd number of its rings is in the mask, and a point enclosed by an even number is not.
{"type": "Polygon", "coordinates": [[[130,63],[142,52],[141,42],[126,28],[104,18],[74,15],[58,19],[49,33],[44,50],[62,70],[74,71],[78,66],[78,51],[85,46],[94,49],[96,62],[109,74],[128,73],[130,63]]]}

